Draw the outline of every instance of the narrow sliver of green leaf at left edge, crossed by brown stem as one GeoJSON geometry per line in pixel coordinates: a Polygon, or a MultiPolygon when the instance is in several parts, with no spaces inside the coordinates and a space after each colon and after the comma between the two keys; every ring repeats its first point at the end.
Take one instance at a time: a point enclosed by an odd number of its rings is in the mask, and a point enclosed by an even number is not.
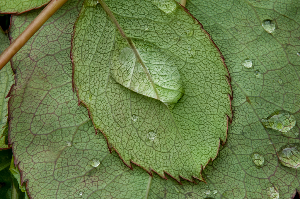
{"type": "MultiPolygon", "coordinates": [[[[8,36],[0,28],[0,54],[4,49],[9,46],[8,36]]],[[[0,71],[0,149],[6,149],[7,146],[7,102],[8,99],[5,97],[13,84],[13,71],[11,70],[10,64],[6,64],[0,71]],[[6,127],[5,127],[6,126],[6,127]],[[2,128],[4,127],[4,129],[2,128]]]]}

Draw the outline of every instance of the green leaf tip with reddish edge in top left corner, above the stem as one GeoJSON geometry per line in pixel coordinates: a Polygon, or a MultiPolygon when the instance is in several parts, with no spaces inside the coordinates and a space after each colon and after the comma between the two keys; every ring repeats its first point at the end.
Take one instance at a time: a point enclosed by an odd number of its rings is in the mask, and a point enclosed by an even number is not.
{"type": "Polygon", "coordinates": [[[51,0],[1,0],[0,13],[23,13],[46,5],[51,0]]]}

